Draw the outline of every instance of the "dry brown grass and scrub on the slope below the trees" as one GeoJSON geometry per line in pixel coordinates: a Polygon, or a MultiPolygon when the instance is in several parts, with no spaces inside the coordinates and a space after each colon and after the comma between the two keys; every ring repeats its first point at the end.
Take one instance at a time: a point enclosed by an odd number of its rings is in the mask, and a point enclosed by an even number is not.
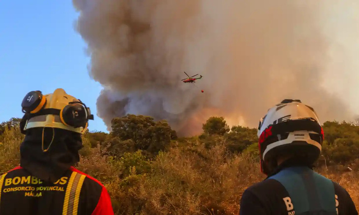
{"type": "MultiPolygon", "coordinates": [[[[18,165],[22,135],[6,131],[0,136],[0,170],[18,165]]],[[[207,149],[196,141],[174,143],[153,161],[140,153],[122,159],[103,155],[84,139],[78,168],[109,190],[117,215],[238,215],[245,188],[264,179],[255,158],[230,156],[224,143],[207,149]]],[[[359,171],[335,173],[320,169],[339,183],[359,204],[359,171]]]]}

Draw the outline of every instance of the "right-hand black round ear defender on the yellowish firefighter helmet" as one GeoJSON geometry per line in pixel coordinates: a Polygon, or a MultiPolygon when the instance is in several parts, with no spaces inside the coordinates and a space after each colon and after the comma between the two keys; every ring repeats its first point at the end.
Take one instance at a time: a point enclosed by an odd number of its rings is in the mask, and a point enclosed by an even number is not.
{"type": "Polygon", "coordinates": [[[60,119],[66,126],[85,128],[88,120],[93,120],[93,115],[90,113],[90,108],[87,108],[84,103],[70,102],[60,110],[60,119]]]}

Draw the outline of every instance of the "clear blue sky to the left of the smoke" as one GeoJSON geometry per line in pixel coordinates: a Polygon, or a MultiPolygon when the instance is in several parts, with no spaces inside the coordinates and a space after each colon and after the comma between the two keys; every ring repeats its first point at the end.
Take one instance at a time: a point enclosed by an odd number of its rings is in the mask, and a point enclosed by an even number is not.
{"type": "Polygon", "coordinates": [[[86,43],[74,30],[77,17],[72,1],[0,1],[0,122],[23,116],[28,92],[63,88],[91,108],[89,130],[107,132],[96,116],[102,87],[88,74],[86,43]]]}

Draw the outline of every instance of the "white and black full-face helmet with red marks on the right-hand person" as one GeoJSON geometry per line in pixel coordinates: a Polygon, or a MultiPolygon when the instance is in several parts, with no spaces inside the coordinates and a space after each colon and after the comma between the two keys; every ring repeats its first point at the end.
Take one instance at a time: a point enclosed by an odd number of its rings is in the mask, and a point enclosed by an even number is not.
{"type": "Polygon", "coordinates": [[[324,132],[313,108],[300,100],[285,99],[270,108],[258,127],[261,170],[269,174],[268,162],[279,155],[304,155],[314,163],[322,151],[324,132]]]}

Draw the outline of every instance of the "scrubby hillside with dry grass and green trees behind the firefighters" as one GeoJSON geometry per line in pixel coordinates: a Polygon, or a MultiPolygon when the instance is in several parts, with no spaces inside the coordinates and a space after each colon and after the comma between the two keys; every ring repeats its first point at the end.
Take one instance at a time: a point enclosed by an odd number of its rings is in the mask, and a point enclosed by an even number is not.
{"type": "MultiPolygon", "coordinates": [[[[0,124],[0,173],[19,165],[19,120],[0,124]]],[[[358,123],[325,122],[315,170],[359,205],[358,123]],[[349,168],[348,168],[349,167],[349,168]]],[[[203,134],[178,137],[166,121],[142,115],[112,120],[112,132],[88,132],[77,168],[109,190],[117,215],[238,215],[259,170],[257,130],[210,117],[203,134]]]]}

